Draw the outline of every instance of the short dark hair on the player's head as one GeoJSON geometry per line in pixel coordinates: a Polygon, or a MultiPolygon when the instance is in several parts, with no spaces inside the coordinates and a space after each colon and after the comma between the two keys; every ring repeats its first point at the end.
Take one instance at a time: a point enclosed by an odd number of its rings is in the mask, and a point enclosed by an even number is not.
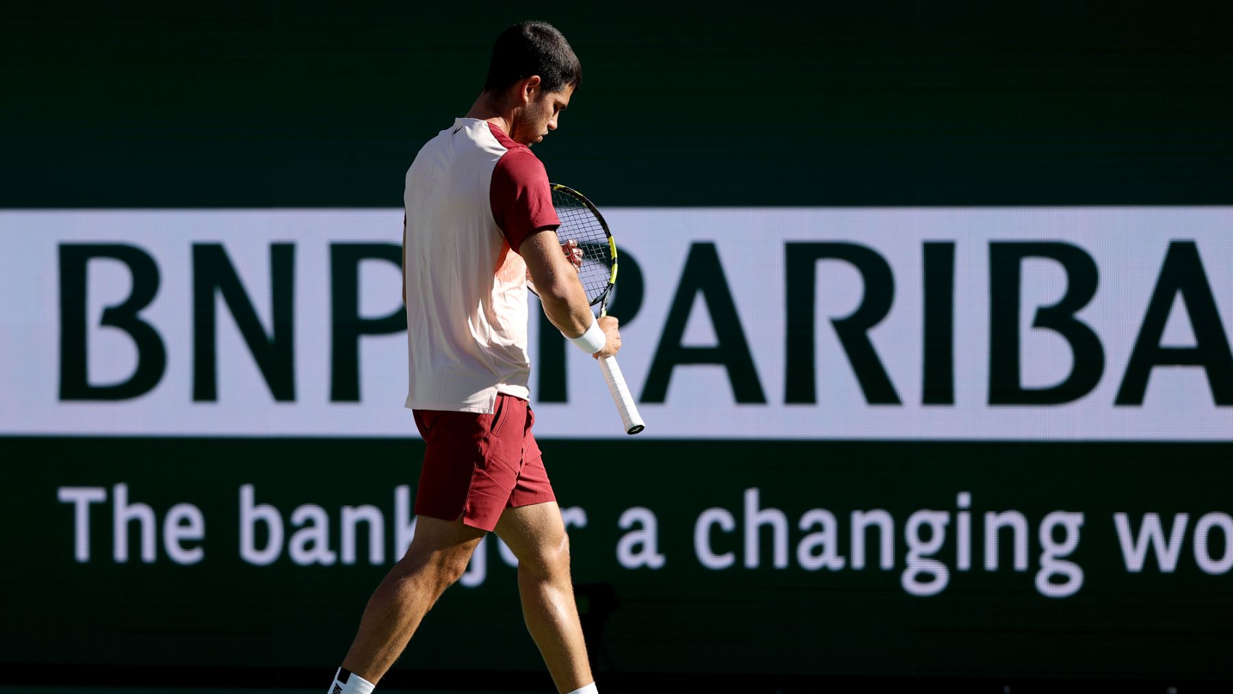
{"type": "Polygon", "coordinates": [[[544,80],[544,91],[561,91],[567,84],[582,86],[582,63],[570,42],[547,22],[522,22],[501,32],[492,47],[483,90],[504,91],[531,75],[544,80]]]}

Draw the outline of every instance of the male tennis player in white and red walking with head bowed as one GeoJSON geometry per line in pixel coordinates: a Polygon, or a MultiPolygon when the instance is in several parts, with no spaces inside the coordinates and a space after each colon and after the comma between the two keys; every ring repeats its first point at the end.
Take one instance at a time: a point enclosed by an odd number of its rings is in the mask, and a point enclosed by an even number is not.
{"type": "Polygon", "coordinates": [[[526,629],[557,690],[598,692],[573,603],[568,537],[526,403],[528,274],[547,319],[571,341],[597,357],[620,349],[616,320],[592,314],[572,244],[556,237],[547,174],[530,150],[556,129],[581,80],[578,58],[556,28],[509,27],[471,111],[407,171],[406,406],[425,443],[416,536],[369,600],[332,694],[372,692],[492,530],[518,557],[526,629]]]}

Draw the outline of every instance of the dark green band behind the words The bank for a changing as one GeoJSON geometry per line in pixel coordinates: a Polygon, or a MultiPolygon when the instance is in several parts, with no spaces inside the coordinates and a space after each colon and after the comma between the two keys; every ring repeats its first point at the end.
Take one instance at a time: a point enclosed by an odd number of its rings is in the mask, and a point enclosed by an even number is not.
{"type": "MultiPolygon", "coordinates": [[[[1189,512],[1233,510],[1228,444],[947,444],[656,441],[591,444],[587,463],[573,462],[577,443],[543,447],[557,494],[581,505],[584,529],[572,531],[576,583],[607,582],[620,602],[603,639],[592,642],[604,672],[815,673],[948,677],[1229,678],[1233,574],[1207,576],[1195,565],[1187,533],[1178,569],[1149,560],[1141,574],[1122,566],[1112,514],[1126,512],[1136,531],[1141,514],[1171,525],[1189,512]],[[637,468],[629,473],[629,461],[637,468]],[[621,472],[621,471],[625,472],[621,472]],[[896,521],[896,568],[805,572],[763,565],[725,571],[694,558],[693,524],[710,507],[741,523],[742,493],[761,489],[764,507],[783,509],[790,546],[797,519],[811,508],[840,520],[840,555],[848,556],[847,515],[884,508],[896,521]],[[940,595],[919,598],[899,584],[903,524],[921,508],[953,510],[956,494],[973,496],[974,518],[1018,509],[1030,521],[1030,569],[981,568],[974,521],[974,569],[952,571],[940,595]],[[635,505],[660,518],[658,571],[625,569],[615,558],[620,513],[635,505]],[[1039,595],[1036,531],[1052,510],[1086,514],[1081,542],[1069,557],[1085,572],[1073,597],[1039,595]]],[[[302,503],[332,514],[344,504],[386,512],[392,542],[393,487],[418,476],[418,440],[290,439],[9,439],[6,457],[55,461],[23,468],[4,488],[12,513],[0,576],[11,594],[0,652],[7,662],[138,662],[148,666],[322,667],[345,651],[359,610],[387,571],[367,565],[269,567],[239,560],[238,489],[256,487],[258,503],[285,519],[302,503]],[[342,466],[340,461],[359,461],[342,466]],[[94,507],[92,561],[73,560],[73,508],[55,502],[60,484],[129,484],[131,500],[162,518],[175,503],[206,516],[206,558],[173,565],[159,550],[154,565],[111,560],[110,507],[94,507]],[[72,624],[72,629],[63,625],[72,624]]],[[[954,521],[938,553],[954,566],[954,521]]],[[[289,533],[290,535],[290,533],[289,533]]],[[[1219,533],[1213,555],[1221,556],[1219,533]]],[[[741,529],[714,534],[716,551],[741,556],[741,529]]],[[[132,531],[136,542],[137,533],[132,531]]],[[[359,558],[365,535],[360,533],[359,558]]],[[[763,533],[763,545],[771,542],[763,533]]],[[[873,545],[869,546],[873,551],[873,545]]],[[[136,549],[133,547],[134,557],[136,549]]],[[[793,550],[794,552],[794,550],[793,550]]],[[[795,556],[793,553],[793,556],[795,556]]],[[[875,555],[872,555],[875,556],[875,555]]],[[[403,668],[535,669],[539,658],[520,619],[514,572],[490,547],[488,577],[478,588],[455,587],[433,610],[401,662],[403,668]],[[454,647],[494,645],[476,661],[454,647]]]]}

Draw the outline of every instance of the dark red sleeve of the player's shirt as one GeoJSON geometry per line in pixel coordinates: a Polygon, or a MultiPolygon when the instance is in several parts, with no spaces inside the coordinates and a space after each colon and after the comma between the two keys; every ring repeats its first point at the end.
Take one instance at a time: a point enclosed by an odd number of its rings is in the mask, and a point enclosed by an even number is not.
{"type": "Polygon", "coordinates": [[[488,196],[492,218],[514,253],[533,233],[561,226],[552,210],[547,171],[530,149],[510,149],[497,160],[488,196]]]}

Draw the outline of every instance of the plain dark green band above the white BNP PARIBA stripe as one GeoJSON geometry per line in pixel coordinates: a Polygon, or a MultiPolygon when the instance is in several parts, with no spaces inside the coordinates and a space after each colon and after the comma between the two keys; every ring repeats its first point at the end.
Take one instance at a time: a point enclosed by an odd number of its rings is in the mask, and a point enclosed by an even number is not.
{"type": "Polygon", "coordinates": [[[0,206],[397,207],[528,17],[584,69],[536,153],[603,205],[1228,203],[1222,9],[10,0],[0,206]]]}

